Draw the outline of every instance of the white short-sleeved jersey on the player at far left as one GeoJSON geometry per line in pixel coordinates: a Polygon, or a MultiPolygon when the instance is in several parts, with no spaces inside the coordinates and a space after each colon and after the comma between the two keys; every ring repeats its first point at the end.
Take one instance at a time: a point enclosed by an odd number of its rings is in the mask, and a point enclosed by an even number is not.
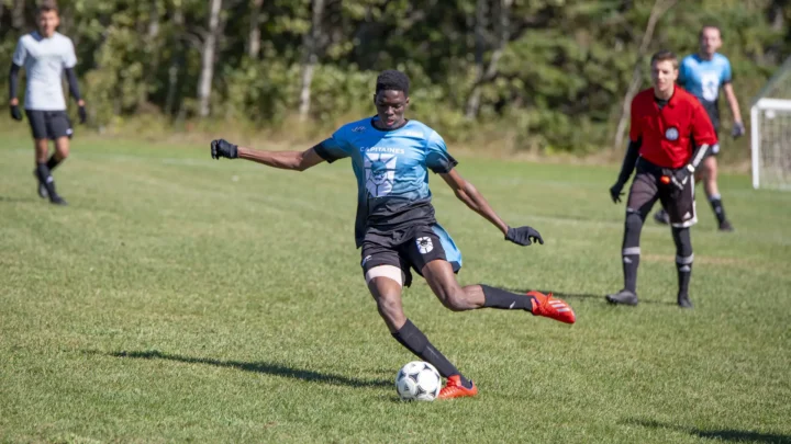
{"type": "Polygon", "coordinates": [[[38,32],[23,35],[16,44],[13,62],[27,75],[25,110],[64,111],[64,68],[77,65],[71,39],[60,33],[44,38],[38,32]]]}

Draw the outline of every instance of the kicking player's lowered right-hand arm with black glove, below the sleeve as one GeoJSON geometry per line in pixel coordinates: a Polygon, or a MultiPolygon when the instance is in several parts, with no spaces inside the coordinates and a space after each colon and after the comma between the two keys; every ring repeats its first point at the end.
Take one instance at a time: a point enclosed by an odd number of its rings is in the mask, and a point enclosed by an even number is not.
{"type": "Polygon", "coordinates": [[[544,244],[544,239],[535,229],[531,227],[509,227],[508,224],[505,224],[500,216],[494,213],[494,209],[492,209],[489,202],[487,202],[478,189],[465,180],[455,169],[447,173],[441,173],[439,175],[443,178],[445,183],[450,186],[459,201],[464,202],[470,209],[483,216],[484,219],[498,227],[498,229],[505,236],[505,240],[510,240],[511,242],[520,246],[530,246],[533,242],[544,244]]]}

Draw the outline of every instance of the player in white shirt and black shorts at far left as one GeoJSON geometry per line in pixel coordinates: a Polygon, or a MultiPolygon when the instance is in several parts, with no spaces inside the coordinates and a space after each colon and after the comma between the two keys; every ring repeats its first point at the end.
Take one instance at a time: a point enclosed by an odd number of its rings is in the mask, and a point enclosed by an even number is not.
{"type": "Polygon", "coordinates": [[[30,121],[35,141],[34,174],[38,179],[38,195],[49,198],[56,205],[66,205],[55,191],[52,171],[63,162],[69,153],[69,138],[74,130],[66,114],[62,79],[64,72],[69,83],[71,96],[79,105],[80,123],[86,121],[85,101],[80,98],[77,65],[71,39],[55,30],[60,24],[57,3],[45,0],[38,7],[36,15],[38,31],[23,35],[16,44],[10,72],[11,116],[22,121],[19,109],[16,87],[19,71],[24,68],[27,75],[24,109],[30,121]],[[55,153],[49,157],[49,140],[55,141],[55,153]]]}

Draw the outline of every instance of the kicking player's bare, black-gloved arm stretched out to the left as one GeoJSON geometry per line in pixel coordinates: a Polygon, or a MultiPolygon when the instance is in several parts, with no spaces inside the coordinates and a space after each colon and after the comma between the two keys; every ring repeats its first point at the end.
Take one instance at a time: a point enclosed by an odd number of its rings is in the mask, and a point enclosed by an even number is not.
{"type": "Polygon", "coordinates": [[[212,140],[212,159],[245,159],[281,170],[304,171],[324,161],[315,148],[307,151],[265,151],[239,147],[225,139],[212,140]]]}

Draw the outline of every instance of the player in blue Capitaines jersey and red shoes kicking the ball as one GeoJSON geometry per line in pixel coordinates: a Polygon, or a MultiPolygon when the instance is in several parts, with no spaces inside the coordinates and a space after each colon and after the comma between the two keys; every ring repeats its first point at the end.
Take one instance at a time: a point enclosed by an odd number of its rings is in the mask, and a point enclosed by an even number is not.
{"type": "Polygon", "coordinates": [[[505,240],[520,246],[544,243],[531,227],[508,226],[483,196],[456,170],[443,138],[428,126],[406,119],[409,78],[386,70],[376,83],[377,115],[349,123],[307,151],[261,151],[224,139],[211,143],[212,158],[246,159],[268,167],[304,171],[323,161],[352,159],[357,178],[355,241],[361,267],[379,315],[392,337],[445,378],[439,398],[475,396],[478,388],[454,366],[404,315],[402,287],[422,275],[442,304],[454,311],[477,308],[521,309],[573,323],[573,310],[562,300],[539,292],[526,295],[488,285],[463,287],[456,281],[461,254],[437,224],[428,191],[428,170],[439,177],[470,209],[494,225],[505,240]]]}

